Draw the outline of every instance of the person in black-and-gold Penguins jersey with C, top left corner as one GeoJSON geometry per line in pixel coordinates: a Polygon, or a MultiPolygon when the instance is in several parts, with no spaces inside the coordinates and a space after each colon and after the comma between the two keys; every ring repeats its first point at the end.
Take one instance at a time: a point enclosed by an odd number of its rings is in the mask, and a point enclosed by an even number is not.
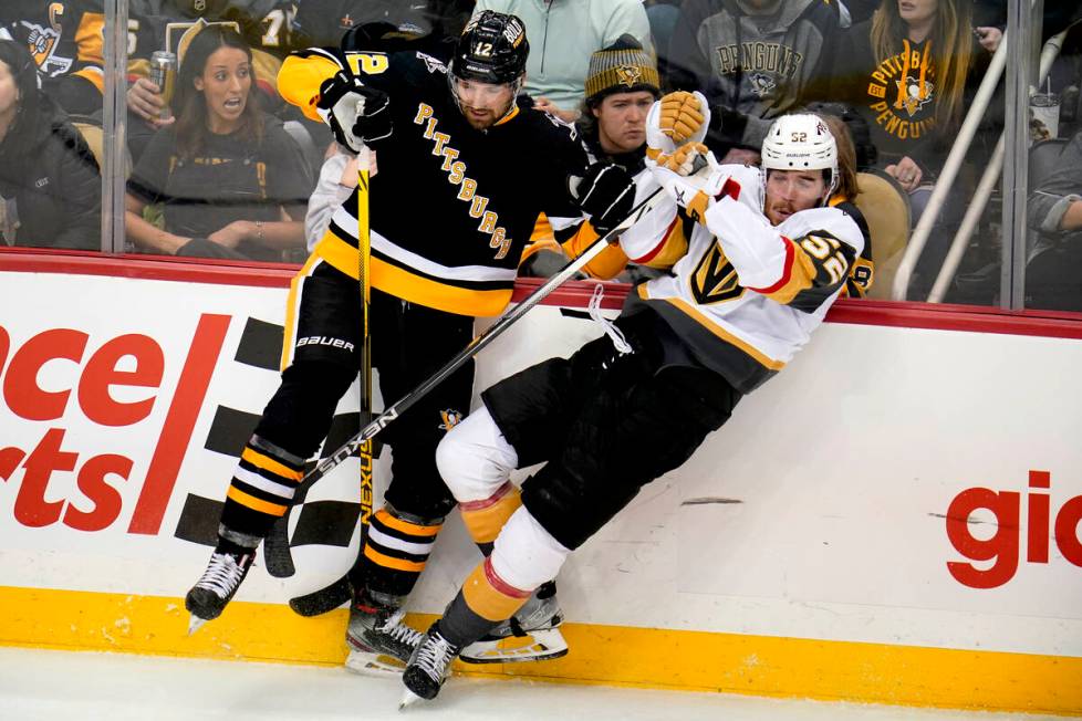
{"type": "Polygon", "coordinates": [[[42,88],[67,113],[102,109],[104,28],[102,0],[0,0],[0,39],[30,51],[42,88]]]}

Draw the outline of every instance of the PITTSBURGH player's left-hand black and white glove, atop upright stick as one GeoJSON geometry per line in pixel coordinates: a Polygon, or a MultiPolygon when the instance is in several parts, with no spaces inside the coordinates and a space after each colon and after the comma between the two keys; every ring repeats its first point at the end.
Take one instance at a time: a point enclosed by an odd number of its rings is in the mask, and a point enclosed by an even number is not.
{"type": "Polygon", "coordinates": [[[356,75],[340,70],[320,85],[315,108],[331,126],[334,139],[354,153],[362,146],[391,135],[391,98],[368,87],[356,75]]]}

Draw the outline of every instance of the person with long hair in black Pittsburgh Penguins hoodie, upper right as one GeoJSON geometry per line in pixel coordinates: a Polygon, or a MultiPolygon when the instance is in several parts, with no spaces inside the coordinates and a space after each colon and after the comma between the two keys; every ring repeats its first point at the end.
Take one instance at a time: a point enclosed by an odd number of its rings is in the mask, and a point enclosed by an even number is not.
{"type": "MultiPolygon", "coordinates": [[[[970,0],[882,0],[839,53],[832,95],[865,118],[877,167],[911,195],[935,181],[961,122],[977,52],[971,11],[970,0]]],[[[916,222],[926,199],[912,201],[916,222]]]]}

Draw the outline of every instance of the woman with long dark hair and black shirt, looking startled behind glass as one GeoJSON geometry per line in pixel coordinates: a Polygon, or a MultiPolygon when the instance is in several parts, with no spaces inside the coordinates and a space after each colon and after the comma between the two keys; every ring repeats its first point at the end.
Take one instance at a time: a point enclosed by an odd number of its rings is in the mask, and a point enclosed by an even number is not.
{"type": "Polygon", "coordinates": [[[232,30],[209,25],[188,45],[177,122],[128,180],[125,229],[138,248],[264,261],[303,249],[313,181],[281,122],[251,102],[254,82],[251,49],[232,30]],[[154,203],[164,206],[163,228],[144,218],[154,203]]]}

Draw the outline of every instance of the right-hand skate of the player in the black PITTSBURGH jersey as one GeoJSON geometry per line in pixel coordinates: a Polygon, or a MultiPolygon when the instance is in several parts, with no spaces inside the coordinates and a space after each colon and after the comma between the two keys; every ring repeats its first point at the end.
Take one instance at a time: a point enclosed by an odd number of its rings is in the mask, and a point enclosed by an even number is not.
{"type": "Polygon", "coordinates": [[[346,668],[366,675],[402,673],[424,638],[424,634],[406,625],[405,615],[397,604],[381,604],[362,592],[350,606],[346,668]]]}

